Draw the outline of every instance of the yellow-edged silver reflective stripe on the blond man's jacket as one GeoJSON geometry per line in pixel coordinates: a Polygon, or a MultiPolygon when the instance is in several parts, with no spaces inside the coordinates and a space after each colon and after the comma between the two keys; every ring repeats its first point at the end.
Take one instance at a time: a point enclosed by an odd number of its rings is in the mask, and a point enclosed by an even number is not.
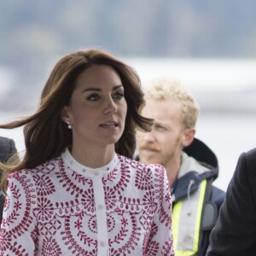
{"type": "MultiPolygon", "coordinates": [[[[199,250],[201,213],[207,180],[189,198],[177,201],[172,209],[172,234],[176,256],[191,256],[199,250]]],[[[188,192],[189,193],[189,192],[188,192]]]]}

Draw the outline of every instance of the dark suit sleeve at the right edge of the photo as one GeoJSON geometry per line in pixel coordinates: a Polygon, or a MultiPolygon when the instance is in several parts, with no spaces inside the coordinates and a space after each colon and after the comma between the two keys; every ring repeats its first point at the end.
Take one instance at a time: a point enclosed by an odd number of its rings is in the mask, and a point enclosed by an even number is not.
{"type": "Polygon", "coordinates": [[[241,154],[207,256],[256,255],[256,149],[241,154]]]}

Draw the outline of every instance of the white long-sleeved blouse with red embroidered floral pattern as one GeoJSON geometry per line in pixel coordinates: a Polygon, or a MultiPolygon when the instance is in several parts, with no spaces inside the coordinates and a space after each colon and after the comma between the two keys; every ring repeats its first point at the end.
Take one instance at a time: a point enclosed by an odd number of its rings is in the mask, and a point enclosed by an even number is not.
{"type": "Polygon", "coordinates": [[[166,170],[115,154],[101,168],[68,150],[9,175],[0,255],[174,255],[166,170]]]}

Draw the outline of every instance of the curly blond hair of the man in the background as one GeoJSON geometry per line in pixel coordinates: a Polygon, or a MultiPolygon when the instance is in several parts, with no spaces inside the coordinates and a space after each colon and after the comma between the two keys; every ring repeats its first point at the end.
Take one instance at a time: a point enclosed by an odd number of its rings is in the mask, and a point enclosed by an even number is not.
{"type": "Polygon", "coordinates": [[[155,79],[143,86],[146,102],[147,98],[154,100],[171,100],[178,102],[182,110],[184,128],[195,128],[200,111],[195,98],[189,94],[178,79],[155,79]]]}

